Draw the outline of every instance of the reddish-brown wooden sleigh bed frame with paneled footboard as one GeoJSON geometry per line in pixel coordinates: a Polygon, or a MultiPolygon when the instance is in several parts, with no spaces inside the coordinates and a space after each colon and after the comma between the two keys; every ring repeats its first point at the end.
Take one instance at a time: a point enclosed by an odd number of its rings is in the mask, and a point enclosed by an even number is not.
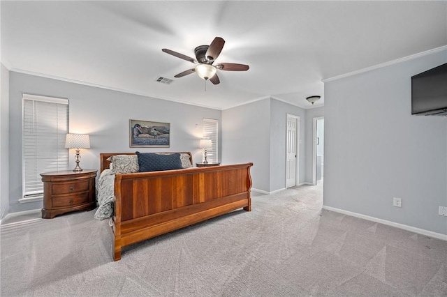
{"type": "MultiPolygon", "coordinates": [[[[191,153],[189,158],[192,162],[191,153]]],[[[101,172],[112,155],[101,153],[101,172]]],[[[251,211],[253,163],[193,167],[115,175],[115,205],[111,218],[113,259],[124,246],[217,217],[238,208],[251,211]]]]}

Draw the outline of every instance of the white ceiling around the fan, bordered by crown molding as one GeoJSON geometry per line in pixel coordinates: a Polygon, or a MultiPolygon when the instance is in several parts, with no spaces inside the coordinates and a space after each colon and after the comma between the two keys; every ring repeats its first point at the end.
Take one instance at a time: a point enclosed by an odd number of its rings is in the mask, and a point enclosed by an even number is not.
{"type": "Polygon", "coordinates": [[[447,1],[1,1],[9,70],[226,109],[273,97],[303,108],[322,79],[447,45],[447,1]],[[213,85],[174,75],[226,40],[213,85]],[[161,84],[156,78],[174,79],[161,84]]]}

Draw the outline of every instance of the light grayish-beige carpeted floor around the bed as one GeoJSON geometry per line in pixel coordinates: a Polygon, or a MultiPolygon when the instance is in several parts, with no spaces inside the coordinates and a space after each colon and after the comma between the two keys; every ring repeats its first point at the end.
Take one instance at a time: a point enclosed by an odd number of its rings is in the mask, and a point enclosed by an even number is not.
{"type": "MultiPolygon", "coordinates": [[[[94,211],[1,226],[1,296],[447,296],[447,242],[321,210],[321,185],[124,249],[94,211]]],[[[22,218],[25,219],[25,218],[22,218]]]]}

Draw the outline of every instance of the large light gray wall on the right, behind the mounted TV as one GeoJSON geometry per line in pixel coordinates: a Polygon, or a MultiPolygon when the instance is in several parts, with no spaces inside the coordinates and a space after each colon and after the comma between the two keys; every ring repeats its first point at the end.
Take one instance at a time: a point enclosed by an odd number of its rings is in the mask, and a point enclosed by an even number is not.
{"type": "Polygon", "coordinates": [[[447,118],[411,116],[411,76],[446,62],[444,50],[325,83],[325,206],[447,234],[447,118]]]}

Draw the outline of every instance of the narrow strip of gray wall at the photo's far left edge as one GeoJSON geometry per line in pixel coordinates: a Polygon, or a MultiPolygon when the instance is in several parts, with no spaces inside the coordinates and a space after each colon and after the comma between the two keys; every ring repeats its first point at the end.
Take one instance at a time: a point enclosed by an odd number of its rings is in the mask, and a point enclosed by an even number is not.
{"type": "Polygon", "coordinates": [[[9,210],[9,71],[1,64],[1,99],[0,99],[0,220],[9,210]]]}

